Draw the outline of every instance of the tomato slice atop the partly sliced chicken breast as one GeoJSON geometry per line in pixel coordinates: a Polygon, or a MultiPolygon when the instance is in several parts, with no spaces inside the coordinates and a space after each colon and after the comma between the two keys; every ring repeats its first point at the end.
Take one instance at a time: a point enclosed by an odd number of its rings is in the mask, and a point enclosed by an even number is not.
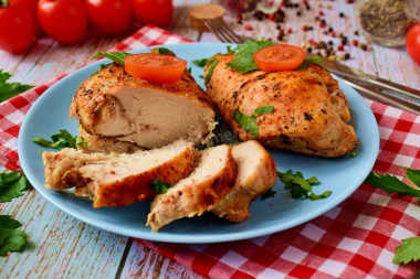
{"type": "Polygon", "coordinates": [[[127,74],[160,84],[178,82],[187,67],[185,60],[155,53],[127,55],[124,63],[127,74]]]}

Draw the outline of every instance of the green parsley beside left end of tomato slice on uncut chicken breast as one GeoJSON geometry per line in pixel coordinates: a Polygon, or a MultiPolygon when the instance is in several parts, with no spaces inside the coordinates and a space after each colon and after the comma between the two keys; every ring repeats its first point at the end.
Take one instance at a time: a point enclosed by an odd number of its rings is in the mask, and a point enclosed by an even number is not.
{"type": "Polygon", "coordinates": [[[248,73],[258,69],[254,58],[252,55],[261,49],[273,45],[274,43],[270,41],[248,41],[246,43],[238,45],[235,52],[237,55],[231,63],[227,65],[239,73],[248,73]]]}

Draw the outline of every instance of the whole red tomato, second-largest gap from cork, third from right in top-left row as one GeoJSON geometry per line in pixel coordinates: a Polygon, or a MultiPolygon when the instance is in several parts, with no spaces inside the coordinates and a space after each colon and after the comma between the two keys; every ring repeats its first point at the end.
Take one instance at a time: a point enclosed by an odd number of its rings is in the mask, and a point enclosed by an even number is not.
{"type": "Polygon", "coordinates": [[[75,44],[86,34],[87,17],[82,0],[40,0],[38,19],[45,33],[61,44],[75,44]]]}

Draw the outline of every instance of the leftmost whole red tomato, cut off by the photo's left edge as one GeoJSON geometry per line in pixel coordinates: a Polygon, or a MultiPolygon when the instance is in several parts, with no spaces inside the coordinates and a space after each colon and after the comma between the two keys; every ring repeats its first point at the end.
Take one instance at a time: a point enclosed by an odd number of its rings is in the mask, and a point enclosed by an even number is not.
{"type": "Polygon", "coordinates": [[[33,18],[20,7],[0,7],[0,49],[24,53],[35,39],[33,18]]]}

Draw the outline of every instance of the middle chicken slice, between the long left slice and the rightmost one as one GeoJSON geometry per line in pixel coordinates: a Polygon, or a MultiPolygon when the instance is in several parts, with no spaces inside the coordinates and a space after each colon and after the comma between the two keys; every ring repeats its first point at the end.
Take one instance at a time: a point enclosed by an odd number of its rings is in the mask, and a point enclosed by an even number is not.
{"type": "Polygon", "coordinates": [[[200,216],[230,192],[235,176],[237,165],[229,146],[200,151],[192,173],[151,202],[146,225],[158,230],[175,219],[200,216]]]}

